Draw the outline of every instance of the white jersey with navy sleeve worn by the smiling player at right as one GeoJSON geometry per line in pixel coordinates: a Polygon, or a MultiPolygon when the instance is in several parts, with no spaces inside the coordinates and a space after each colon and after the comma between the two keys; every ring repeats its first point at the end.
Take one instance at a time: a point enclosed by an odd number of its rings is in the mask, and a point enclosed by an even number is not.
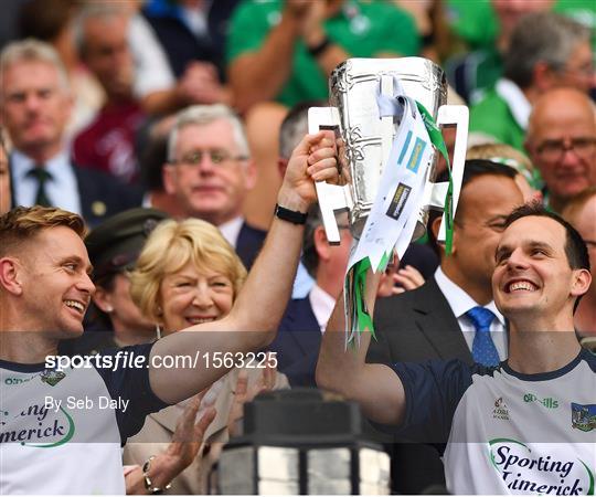
{"type": "Polygon", "coordinates": [[[451,494],[595,494],[596,356],[542,374],[459,360],[393,369],[406,393],[398,433],[445,451],[451,494]]]}

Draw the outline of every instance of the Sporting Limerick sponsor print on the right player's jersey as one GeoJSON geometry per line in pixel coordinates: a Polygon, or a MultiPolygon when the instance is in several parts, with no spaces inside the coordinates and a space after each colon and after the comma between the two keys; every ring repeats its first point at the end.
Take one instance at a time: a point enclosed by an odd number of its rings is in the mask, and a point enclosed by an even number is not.
{"type": "Polygon", "coordinates": [[[490,461],[513,494],[594,495],[594,468],[562,444],[541,444],[552,448],[541,453],[511,438],[489,445],[490,461]]]}

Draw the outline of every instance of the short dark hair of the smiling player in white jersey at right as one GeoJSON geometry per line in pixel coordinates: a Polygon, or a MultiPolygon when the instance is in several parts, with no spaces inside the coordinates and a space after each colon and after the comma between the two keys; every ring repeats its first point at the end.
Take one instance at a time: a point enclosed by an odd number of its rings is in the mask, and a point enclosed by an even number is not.
{"type": "Polygon", "coordinates": [[[565,229],[565,255],[572,269],[589,271],[589,255],[582,235],[561,215],[547,211],[540,202],[528,203],[514,209],[504,221],[505,229],[522,218],[530,215],[550,218],[565,229]]]}

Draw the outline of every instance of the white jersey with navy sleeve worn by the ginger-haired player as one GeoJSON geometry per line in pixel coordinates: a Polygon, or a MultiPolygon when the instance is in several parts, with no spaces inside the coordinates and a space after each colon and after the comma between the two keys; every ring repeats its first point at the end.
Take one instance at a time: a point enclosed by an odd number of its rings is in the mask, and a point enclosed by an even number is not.
{"type": "MultiPolygon", "coordinates": [[[[123,349],[146,364],[150,350],[123,349]]],[[[167,405],[148,369],[45,366],[0,361],[1,494],[125,494],[121,445],[167,405]]]]}

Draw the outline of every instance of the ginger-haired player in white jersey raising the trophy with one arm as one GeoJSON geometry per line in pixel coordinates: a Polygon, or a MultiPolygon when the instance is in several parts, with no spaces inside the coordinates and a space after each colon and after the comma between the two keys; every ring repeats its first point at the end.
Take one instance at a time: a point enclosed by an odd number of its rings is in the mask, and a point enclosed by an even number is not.
{"type": "MultiPolygon", "coordinates": [[[[323,131],[296,148],[278,193],[277,218],[228,316],[96,356],[88,366],[55,357],[58,340],[83,332],[95,290],[83,220],[40,207],[0,218],[3,493],[124,494],[120,445],[145,416],[204,390],[227,371],[205,367],[205,355],[258,350],[274,338],[296,273],[304,213],[316,198],[312,180],[337,181],[332,145],[323,131]],[[194,358],[194,367],[160,367],[180,356],[194,358]]],[[[145,474],[148,493],[168,484],[150,462],[145,474]]]]}

